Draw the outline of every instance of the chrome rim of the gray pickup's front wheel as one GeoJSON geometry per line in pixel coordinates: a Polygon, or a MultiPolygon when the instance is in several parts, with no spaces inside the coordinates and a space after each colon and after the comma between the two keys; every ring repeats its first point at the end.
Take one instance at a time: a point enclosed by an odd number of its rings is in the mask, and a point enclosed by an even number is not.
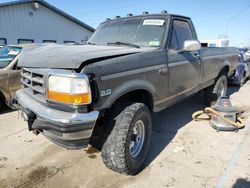
{"type": "Polygon", "coordinates": [[[130,155],[135,158],[137,157],[143,147],[145,139],[145,125],[141,120],[138,120],[132,130],[130,139],[130,155]]]}

